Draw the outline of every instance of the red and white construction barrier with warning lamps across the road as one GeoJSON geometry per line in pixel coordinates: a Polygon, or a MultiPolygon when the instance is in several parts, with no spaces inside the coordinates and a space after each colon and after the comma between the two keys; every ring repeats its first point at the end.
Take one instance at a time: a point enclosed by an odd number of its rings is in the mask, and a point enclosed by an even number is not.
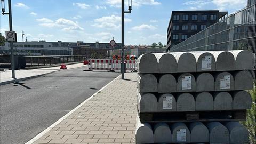
{"type": "MultiPolygon", "coordinates": [[[[121,60],[89,59],[89,69],[97,70],[120,70],[121,60]]],[[[136,60],[125,60],[126,70],[136,69],[136,60]]]]}

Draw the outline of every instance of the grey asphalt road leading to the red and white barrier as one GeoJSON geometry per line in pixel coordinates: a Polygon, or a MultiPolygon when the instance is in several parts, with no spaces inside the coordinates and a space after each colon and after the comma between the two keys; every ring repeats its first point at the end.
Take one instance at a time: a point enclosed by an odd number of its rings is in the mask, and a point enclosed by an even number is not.
{"type": "Polygon", "coordinates": [[[84,69],[0,86],[0,143],[26,143],[119,75],[84,69]]]}

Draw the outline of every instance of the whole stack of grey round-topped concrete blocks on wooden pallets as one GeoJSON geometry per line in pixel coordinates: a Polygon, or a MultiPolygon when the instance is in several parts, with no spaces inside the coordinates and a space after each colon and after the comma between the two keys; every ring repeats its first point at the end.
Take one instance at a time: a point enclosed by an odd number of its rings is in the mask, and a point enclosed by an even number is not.
{"type": "Polygon", "coordinates": [[[141,55],[136,143],[246,143],[230,121],[252,107],[252,61],[245,50],[141,55]]]}

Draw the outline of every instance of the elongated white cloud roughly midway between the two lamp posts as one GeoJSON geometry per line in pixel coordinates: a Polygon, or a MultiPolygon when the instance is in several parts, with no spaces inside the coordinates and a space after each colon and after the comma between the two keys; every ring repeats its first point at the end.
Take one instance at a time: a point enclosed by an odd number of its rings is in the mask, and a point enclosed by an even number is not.
{"type": "Polygon", "coordinates": [[[40,26],[45,27],[59,27],[64,31],[74,31],[74,30],[84,30],[81,26],[78,25],[78,22],[74,22],[68,19],[60,18],[58,20],[50,20],[47,18],[37,19],[37,21],[41,22],[39,23],[40,26]]]}

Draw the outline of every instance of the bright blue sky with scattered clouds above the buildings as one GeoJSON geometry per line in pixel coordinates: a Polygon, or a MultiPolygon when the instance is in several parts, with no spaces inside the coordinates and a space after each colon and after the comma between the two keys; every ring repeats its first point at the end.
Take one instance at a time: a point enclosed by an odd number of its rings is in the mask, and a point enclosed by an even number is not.
{"type": "MultiPolygon", "coordinates": [[[[127,1],[127,0],[125,0],[127,1]]],[[[233,13],[246,0],[133,0],[125,14],[125,44],[166,44],[171,12],[175,10],[220,10],[233,13]]],[[[7,0],[5,0],[7,9],[7,0]]],[[[22,41],[121,42],[121,0],[12,0],[13,30],[22,41]]],[[[127,7],[127,6],[126,6],[127,7]]],[[[7,11],[7,10],[6,10],[7,11]]],[[[1,14],[1,33],[9,29],[1,14]]]]}

